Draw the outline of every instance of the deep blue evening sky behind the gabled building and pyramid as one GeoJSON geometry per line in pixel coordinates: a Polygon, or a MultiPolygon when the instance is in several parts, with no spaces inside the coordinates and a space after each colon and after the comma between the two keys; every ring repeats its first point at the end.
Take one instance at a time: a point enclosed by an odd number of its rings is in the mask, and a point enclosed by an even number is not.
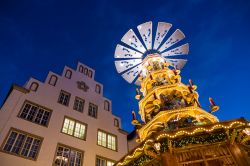
{"type": "Polygon", "coordinates": [[[12,83],[29,77],[45,80],[49,70],[61,73],[78,61],[96,70],[113,113],[131,131],[131,110],[137,111],[135,86],[114,66],[114,50],[124,33],[152,20],[180,28],[190,43],[184,83],[198,85],[201,105],[211,96],[220,120],[250,119],[250,1],[0,1],[0,101],[12,83]]]}

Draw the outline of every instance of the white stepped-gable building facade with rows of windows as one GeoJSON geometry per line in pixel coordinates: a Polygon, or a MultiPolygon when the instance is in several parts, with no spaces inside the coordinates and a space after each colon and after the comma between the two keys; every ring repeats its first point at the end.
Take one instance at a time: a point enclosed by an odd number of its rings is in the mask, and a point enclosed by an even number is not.
{"type": "Polygon", "coordinates": [[[0,110],[1,166],[111,166],[128,152],[95,71],[78,63],[13,85],[0,110]]]}

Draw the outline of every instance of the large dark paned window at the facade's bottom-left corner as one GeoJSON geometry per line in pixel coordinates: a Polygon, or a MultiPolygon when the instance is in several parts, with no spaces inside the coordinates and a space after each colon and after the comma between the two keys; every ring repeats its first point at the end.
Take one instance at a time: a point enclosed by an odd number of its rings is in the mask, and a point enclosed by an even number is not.
{"type": "Polygon", "coordinates": [[[2,150],[10,154],[35,160],[41,143],[42,139],[37,136],[11,129],[2,150]]]}

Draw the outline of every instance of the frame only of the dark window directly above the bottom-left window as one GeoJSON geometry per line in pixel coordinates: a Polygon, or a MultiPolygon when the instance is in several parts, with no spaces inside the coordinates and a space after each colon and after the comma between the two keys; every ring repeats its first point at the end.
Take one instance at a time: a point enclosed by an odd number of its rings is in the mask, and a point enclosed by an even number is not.
{"type": "Polygon", "coordinates": [[[34,102],[31,102],[31,101],[29,101],[29,100],[25,100],[25,101],[23,102],[23,105],[22,105],[22,107],[21,107],[19,113],[17,114],[17,117],[20,118],[20,119],[26,120],[26,121],[28,121],[28,122],[32,122],[32,123],[34,123],[34,124],[43,126],[43,127],[48,127],[48,126],[49,126],[49,122],[50,122],[50,118],[51,118],[51,115],[52,115],[52,112],[53,112],[53,110],[50,109],[50,108],[41,106],[41,105],[36,104],[36,103],[34,103],[34,102]],[[28,120],[28,119],[26,119],[26,118],[22,118],[22,117],[21,117],[21,114],[22,114],[23,109],[24,109],[24,107],[25,107],[26,104],[34,105],[34,106],[37,107],[37,111],[36,111],[36,113],[34,114],[34,117],[33,117],[33,119],[32,119],[31,121],[28,120]],[[44,111],[47,111],[47,112],[50,113],[50,114],[49,114],[49,117],[48,117],[48,123],[47,123],[46,125],[42,125],[42,124],[40,124],[40,123],[36,123],[36,122],[35,122],[36,115],[38,114],[39,108],[42,108],[44,111]]]}

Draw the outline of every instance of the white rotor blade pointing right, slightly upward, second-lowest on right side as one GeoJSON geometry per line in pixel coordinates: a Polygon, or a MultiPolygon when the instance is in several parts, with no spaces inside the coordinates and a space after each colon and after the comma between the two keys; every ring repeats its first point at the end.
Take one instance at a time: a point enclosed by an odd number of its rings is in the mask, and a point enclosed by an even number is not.
{"type": "Polygon", "coordinates": [[[189,52],[189,44],[183,44],[179,47],[173,48],[169,51],[166,51],[164,53],[162,53],[161,55],[164,57],[168,57],[168,56],[176,56],[176,55],[186,55],[189,52]]]}

